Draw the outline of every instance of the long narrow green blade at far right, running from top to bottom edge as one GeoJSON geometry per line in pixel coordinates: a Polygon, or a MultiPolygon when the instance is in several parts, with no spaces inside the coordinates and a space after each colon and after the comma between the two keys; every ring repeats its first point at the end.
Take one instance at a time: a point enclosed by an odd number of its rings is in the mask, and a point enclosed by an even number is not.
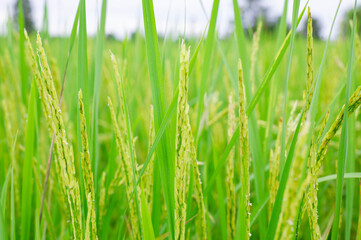
{"type": "Polygon", "coordinates": [[[353,11],[353,26],[351,33],[351,46],[348,60],[348,68],[347,68],[347,80],[346,80],[346,96],[345,96],[345,113],[343,117],[342,123],[342,132],[340,139],[340,147],[339,147],[339,156],[337,159],[337,180],[336,180],[336,206],[335,206],[335,218],[332,225],[332,234],[331,239],[338,239],[338,231],[339,231],[339,220],[341,215],[341,200],[342,200],[342,188],[343,188],[343,178],[345,175],[345,165],[346,160],[348,158],[349,151],[349,136],[348,136],[348,99],[351,94],[351,82],[352,82],[352,64],[353,64],[353,56],[354,56],[354,41],[355,41],[355,31],[356,31],[356,6],[357,0],[355,0],[354,11],[353,11]]]}

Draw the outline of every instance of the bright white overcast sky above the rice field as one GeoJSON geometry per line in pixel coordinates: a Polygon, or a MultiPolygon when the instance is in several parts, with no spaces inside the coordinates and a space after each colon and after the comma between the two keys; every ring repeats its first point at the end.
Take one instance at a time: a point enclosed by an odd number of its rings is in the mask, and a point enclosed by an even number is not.
{"type": "MultiPolygon", "coordinates": [[[[37,29],[41,29],[45,0],[30,0],[32,16],[37,29]]],[[[271,17],[282,14],[284,0],[260,0],[271,17]]],[[[15,0],[0,0],[0,34],[6,32],[7,19],[13,13],[15,0]]],[[[130,35],[137,29],[144,31],[141,0],[108,0],[106,33],[117,38],[130,35]]],[[[242,6],[244,0],[238,0],[242,6]]],[[[292,0],[289,0],[287,21],[292,19],[292,0]]],[[[178,36],[198,36],[207,27],[213,0],[153,0],[157,31],[161,34],[178,36]],[[204,8],[202,8],[202,4],[204,8]],[[204,11],[202,10],[204,9],[204,11]]],[[[300,11],[306,0],[301,0],[300,11]]],[[[321,23],[321,36],[327,38],[339,0],[310,0],[313,18],[321,23]]],[[[52,35],[69,35],[75,17],[78,1],[48,0],[49,32],[52,35]]],[[[354,6],[353,0],[343,0],[336,19],[332,37],[339,32],[340,22],[346,10],[354,6]]],[[[89,35],[96,33],[100,19],[101,0],[86,0],[87,30],[89,35]]],[[[232,0],[220,0],[217,31],[225,36],[232,31],[232,0]]],[[[305,20],[305,19],[304,19],[305,20]]],[[[302,24],[301,24],[302,26],[302,24]]]]}

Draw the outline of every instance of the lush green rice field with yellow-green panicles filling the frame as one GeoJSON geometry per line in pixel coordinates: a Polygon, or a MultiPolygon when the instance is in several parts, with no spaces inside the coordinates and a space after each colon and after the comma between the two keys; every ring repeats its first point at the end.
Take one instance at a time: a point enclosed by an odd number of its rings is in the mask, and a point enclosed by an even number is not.
{"type": "Polygon", "coordinates": [[[356,10],[331,41],[300,0],[274,33],[245,32],[233,0],[221,39],[219,2],[178,40],[152,0],[122,40],[107,0],[95,37],[85,0],[68,37],[19,11],[0,37],[0,239],[361,239],[356,10]]]}

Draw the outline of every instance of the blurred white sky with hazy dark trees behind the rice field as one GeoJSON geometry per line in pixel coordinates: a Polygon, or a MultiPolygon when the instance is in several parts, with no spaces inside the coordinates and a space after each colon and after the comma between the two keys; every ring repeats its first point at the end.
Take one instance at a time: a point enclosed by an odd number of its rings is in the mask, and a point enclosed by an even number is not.
{"type": "MultiPolygon", "coordinates": [[[[0,34],[6,33],[6,25],[9,19],[15,19],[17,15],[18,0],[1,0],[0,3],[0,34]]],[[[154,0],[154,10],[157,23],[157,31],[162,36],[196,37],[203,33],[207,26],[208,17],[212,8],[212,0],[154,0]]],[[[288,23],[292,17],[292,1],[289,1],[288,23]]],[[[283,10],[283,0],[239,0],[243,11],[243,21],[246,28],[254,28],[257,19],[264,19],[264,27],[269,31],[274,29],[283,10]]],[[[306,3],[301,1],[301,7],[306,3]]],[[[331,27],[332,18],[337,9],[339,0],[310,0],[312,16],[314,19],[315,37],[325,39],[331,27]]],[[[90,36],[95,35],[98,19],[100,17],[99,0],[88,0],[87,4],[87,28],[90,36]]],[[[347,23],[353,0],[343,0],[340,14],[333,31],[332,39],[336,39],[345,33],[348,28],[343,26],[347,23]]],[[[44,27],[44,15],[47,9],[48,29],[52,36],[69,35],[76,13],[78,1],[74,0],[24,0],[24,8],[27,18],[27,29],[41,30],[44,27]]],[[[360,7],[358,10],[360,17],[360,7]]],[[[106,20],[106,34],[122,39],[130,36],[138,29],[143,32],[141,0],[108,0],[106,20]]],[[[303,20],[305,20],[304,18],[303,20]]],[[[217,30],[220,37],[227,37],[233,31],[233,10],[231,0],[222,0],[220,3],[217,30]]],[[[302,31],[305,22],[301,23],[299,31],[302,31]]]]}

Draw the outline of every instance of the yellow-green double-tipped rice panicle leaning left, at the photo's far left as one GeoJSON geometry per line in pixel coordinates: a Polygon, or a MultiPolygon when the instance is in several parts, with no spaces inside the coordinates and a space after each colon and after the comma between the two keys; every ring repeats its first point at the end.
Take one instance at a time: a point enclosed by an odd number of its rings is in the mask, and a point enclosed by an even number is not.
{"type": "Polygon", "coordinates": [[[73,237],[81,239],[83,236],[81,201],[79,184],[75,177],[75,164],[72,146],[69,146],[63,121],[62,111],[59,107],[58,96],[54,87],[54,81],[47,62],[47,57],[42,46],[40,35],[37,36],[39,65],[31,46],[29,37],[25,31],[28,50],[32,59],[32,72],[37,83],[38,92],[44,116],[48,124],[49,135],[55,132],[55,153],[56,168],[59,177],[59,184],[67,200],[71,216],[73,237]]]}

